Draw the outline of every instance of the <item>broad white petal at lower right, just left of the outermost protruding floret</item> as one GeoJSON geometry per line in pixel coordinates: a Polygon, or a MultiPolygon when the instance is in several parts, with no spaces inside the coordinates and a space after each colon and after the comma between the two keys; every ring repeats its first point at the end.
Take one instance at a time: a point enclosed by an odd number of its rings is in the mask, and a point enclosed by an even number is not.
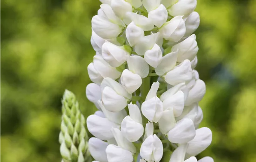
{"type": "Polygon", "coordinates": [[[172,143],[187,143],[195,137],[195,126],[190,118],[178,121],[168,132],[168,140],[172,143]]]}

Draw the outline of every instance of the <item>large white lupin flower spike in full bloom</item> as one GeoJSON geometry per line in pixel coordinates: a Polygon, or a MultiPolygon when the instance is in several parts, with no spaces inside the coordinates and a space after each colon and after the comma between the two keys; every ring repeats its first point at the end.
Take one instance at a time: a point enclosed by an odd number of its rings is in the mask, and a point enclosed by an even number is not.
{"type": "Polygon", "coordinates": [[[91,155],[98,162],[160,162],[172,151],[169,162],[197,162],[212,132],[198,129],[206,87],[195,70],[196,0],[101,2],[92,18],[94,83],[86,88],[99,109],[87,118],[91,155]]]}

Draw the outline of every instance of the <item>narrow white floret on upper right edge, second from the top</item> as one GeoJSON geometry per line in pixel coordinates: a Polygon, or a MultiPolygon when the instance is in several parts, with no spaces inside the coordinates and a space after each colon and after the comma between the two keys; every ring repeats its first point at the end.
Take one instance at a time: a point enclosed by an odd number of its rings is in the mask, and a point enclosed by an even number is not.
{"type": "Polygon", "coordinates": [[[197,12],[192,12],[185,21],[186,34],[185,37],[190,36],[199,26],[200,16],[197,12]]]}

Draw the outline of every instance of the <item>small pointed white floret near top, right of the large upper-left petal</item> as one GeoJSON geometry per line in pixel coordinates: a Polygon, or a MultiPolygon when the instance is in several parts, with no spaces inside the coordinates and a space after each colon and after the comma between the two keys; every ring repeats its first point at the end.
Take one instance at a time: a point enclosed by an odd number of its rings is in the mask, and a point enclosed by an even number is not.
{"type": "Polygon", "coordinates": [[[131,46],[134,46],[141,37],[144,37],[144,31],[135,22],[131,22],[125,31],[126,38],[131,46]]]}

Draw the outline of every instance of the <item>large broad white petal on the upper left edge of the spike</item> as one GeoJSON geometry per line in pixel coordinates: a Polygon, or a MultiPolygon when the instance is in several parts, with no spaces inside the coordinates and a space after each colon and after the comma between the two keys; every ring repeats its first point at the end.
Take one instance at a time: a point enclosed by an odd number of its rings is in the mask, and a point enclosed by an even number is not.
{"type": "Polygon", "coordinates": [[[103,39],[116,38],[123,30],[122,26],[102,19],[99,15],[95,15],[92,18],[92,28],[95,33],[103,39]]]}

